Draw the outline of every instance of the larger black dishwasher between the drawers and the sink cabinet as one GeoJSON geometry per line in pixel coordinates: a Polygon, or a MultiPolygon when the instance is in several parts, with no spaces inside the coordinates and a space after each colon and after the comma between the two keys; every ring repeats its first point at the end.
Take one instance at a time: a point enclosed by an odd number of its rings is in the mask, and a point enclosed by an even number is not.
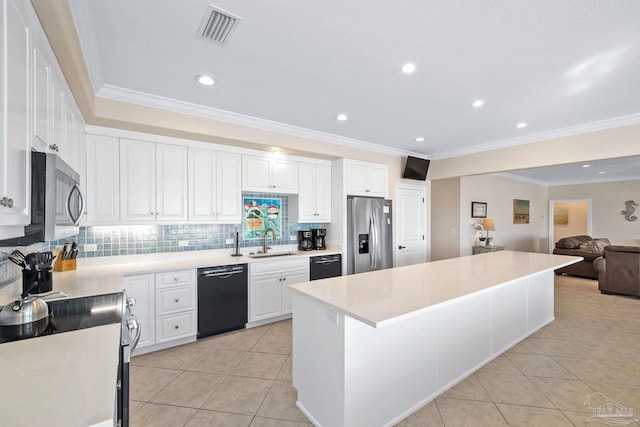
{"type": "Polygon", "coordinates": [[[247,264],[198,269],[198,338],[247,323],[247,264]]]}

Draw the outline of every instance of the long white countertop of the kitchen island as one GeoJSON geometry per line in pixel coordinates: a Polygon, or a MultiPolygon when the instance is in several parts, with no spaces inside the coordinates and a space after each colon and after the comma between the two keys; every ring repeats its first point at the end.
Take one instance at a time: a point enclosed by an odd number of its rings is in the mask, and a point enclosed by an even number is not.
{"type": "Polygon", "coordinates": [[[437,304],[581,260],[566,255],[499,251],[316,280],[289,288],[377,328],[437,304]]]}

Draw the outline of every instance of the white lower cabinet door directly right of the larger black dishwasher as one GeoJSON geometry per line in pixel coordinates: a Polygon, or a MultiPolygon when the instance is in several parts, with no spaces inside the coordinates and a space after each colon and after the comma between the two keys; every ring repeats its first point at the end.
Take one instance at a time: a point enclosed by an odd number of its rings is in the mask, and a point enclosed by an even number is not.
{"type": "Polygon", "coordinates": [[[275,317],[281,313],[282,276],[280,273],[251,277],[249,320],[275,317]]]}

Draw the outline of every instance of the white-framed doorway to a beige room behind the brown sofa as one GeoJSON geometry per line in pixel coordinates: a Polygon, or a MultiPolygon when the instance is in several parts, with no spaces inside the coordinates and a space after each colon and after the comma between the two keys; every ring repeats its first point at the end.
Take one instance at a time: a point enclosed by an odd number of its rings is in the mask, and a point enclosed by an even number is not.
{"type": "Polygon", "coordinates": [[[591,199],[549,201],[549,253],[563,237],[591,235],[591,199]]]}

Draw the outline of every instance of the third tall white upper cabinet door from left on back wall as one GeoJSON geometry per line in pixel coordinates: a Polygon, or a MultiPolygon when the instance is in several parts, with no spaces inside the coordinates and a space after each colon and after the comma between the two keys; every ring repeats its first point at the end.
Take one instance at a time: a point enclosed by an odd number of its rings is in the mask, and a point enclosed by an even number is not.
{"type": "Polygon", "coordinates": [[[187,220],[187,148],[156,144],[156,219],[187,220]]]}

